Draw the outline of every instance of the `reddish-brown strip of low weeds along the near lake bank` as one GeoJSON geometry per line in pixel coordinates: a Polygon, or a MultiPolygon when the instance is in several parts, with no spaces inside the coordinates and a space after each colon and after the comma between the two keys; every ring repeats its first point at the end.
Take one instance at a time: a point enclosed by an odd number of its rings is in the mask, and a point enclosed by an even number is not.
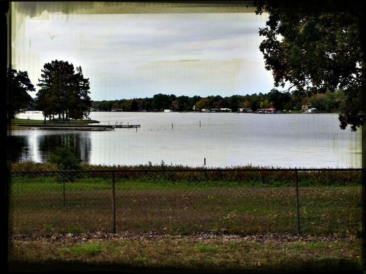
{"type": "MultiPolygon", "coordinates": [[[[89,178],[103,178],[108,179],[111,182],[111,172],[97,173],[96,170],[115,170],[116,180],[127,181],[142,181],[142,182],[164,182],[164,184],[177,184],[184,183],[184,185],[199,185],[207,187],[223,186],[223,187],[235,187],[248,185],[250,187],[294,187],[295,174],[294,172],[284,172],[281,170],[275,171],[256,171],[242,172],[240,170],[251,170],[253,168],[264,169],[271,167],[256,167],[256,166],[244,166],[244,167],[230,167],[229,171],[222,171],[217,169],[212,171],[197,171],[196,167],[188,166],[160,166],[160,165],[131,165],[131,166],[104,166],[104,165],[82,165],[82,170],[89,171],[90,173],[84,174],[82,177],[89,178]],[[131,172],[130,170],[143,169],[151,170],[150,172],[131,172]],[[154,172],[153,170],[164,170],[164,172],[154,172]],[[172,172],[170,170],[182,170],[172,172]],[[190,172],[184,170],[189,169],[190,172]],[[212,184],[213,182],[213,184],[212,184]]],[[[202,169],[202,168],[200,168],[202,169]]],[[[209,168],[207,168],[209,169],[209,168]]],[[[39,177],[37,174],[39,171],[57,170],[57,167],[52,164],[42,164],[35,162],[23,162],[14,163],[11,165],[11,170],[14,172],[33,172],[31,176],[39,177]]],[[[302,187],[321,187],[321,186],[358,186],[361,185],[361,172],[360,171],[319,171],[319,172],[298,172],[299,185],[302,187]]],[[[40,179],[41,180],[41,179],[40,179]]],[[[145,186],[144,186],[145,187],[145,186]]]]}

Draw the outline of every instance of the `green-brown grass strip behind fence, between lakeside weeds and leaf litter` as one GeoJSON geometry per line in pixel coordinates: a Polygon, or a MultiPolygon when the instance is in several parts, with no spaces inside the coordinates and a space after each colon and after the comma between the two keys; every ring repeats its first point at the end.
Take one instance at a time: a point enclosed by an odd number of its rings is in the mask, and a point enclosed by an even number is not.
{"type": "MultiPolygon", "coordinates": [[[[64,196],[63,183],[53,176],[13,177],[10,188],[13,231],[39,234],[110,231],[110,180],[86,177],[66,182],[64,196]]],[[[185,235],[295,233],[294,188],[252,185],[116,179],[116,229],[185,235]]],[[[360,185],[300,187],[299,201],[302,232],[360,233],[360,185]]]]}

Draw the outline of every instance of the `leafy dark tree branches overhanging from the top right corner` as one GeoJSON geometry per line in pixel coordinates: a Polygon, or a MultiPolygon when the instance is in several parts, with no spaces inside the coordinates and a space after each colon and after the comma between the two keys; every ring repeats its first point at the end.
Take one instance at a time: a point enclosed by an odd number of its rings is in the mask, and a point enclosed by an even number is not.
{"type": "Polygon", "coordinates": [[[340,127],[356,131],[365,121],[362,113],[362,2],[263,1],[256,14],[268,12],[265,39],[259,46],[265,68],[275,86],[291,83],[297,93],[312,96],[342,89],[346,100],[340,127]],[[338,4],[336,4],[338,3],[338,4]]]}

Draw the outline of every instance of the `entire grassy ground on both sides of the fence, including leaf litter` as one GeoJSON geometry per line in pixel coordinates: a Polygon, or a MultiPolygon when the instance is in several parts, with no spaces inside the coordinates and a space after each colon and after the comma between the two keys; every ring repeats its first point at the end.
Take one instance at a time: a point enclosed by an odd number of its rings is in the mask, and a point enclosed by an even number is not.
{"type": "MultiPolygon", "coordinates": [[[[25,163],[13,170],[34,167],[53,169],[25,163]]],[[[361,269],[359,173],[299,173],[299,236],[291,174],[130,174],[120,167],[116,234],[111,174],[61,175],[13,174],[10,271],[361,269]],[[74,182],[64,192],[67,177],[74,182]]]]}

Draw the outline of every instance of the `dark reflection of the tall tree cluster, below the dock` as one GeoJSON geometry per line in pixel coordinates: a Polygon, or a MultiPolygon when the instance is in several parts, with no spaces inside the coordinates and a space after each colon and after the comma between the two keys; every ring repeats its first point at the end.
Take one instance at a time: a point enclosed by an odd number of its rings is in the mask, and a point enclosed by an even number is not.
{"type": "Polygon", "coordinates": [[[48,156],[54,153],[55,148],[69,143],[74,147],[76,157],[85,163],[89,163],[89,151],[91,146],[90,138],[88,136],[77,133],[49,134],[39,136],[37,142],[39,144],[42,162],[47,162],[48,156]]]}

